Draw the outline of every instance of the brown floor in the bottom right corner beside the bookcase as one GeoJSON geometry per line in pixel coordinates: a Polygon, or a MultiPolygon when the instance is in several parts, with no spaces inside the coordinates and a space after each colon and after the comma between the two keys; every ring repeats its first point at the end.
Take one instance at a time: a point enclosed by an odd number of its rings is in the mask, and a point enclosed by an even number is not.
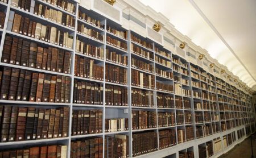
{"type": "MultiPolygon", "coordinates": [[[[256,132],[252,137],[253,141],[253,154],[256,158],[256,132]]],[[[242,143],[237,144],[228,153],[221,155],[220,158],[250,158],[251,157],[251,140],[250,137],[243,140],[242,143]]]]}

